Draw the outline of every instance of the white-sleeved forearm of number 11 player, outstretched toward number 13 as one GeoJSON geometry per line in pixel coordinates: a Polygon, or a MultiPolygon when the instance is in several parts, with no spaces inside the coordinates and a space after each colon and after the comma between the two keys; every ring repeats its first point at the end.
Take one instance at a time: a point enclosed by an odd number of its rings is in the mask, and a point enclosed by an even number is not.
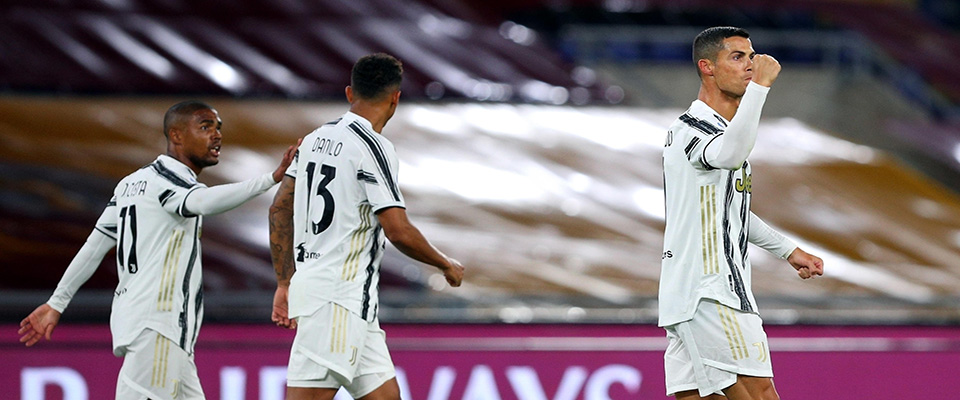
{"type": "Polygon", "coordinates": [[[187,195],[184,215],[210,215],[232,210],[273,187],[273,173],[243,182],[196,189],[187,195]]]}

